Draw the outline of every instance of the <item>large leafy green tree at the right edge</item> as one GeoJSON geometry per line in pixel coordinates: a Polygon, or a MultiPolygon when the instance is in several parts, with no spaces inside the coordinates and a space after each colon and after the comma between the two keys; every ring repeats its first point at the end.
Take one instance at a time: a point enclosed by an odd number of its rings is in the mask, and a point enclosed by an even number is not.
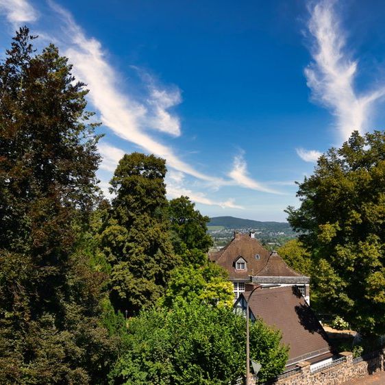
{"type": "Polygon", "coordinates": [[[385,134],[354,132],[299,184],[288,221],[314,257],[323,307],[363,334],[385,333],[385,134]]]}

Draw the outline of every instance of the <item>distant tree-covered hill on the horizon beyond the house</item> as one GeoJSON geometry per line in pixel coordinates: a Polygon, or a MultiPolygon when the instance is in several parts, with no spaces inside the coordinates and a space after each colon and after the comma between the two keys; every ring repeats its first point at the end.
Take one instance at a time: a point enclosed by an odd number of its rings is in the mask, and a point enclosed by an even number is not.
{"type": "Polygon", "coordinates": [[[210,218],[208,226],[223,226],[225,229],[264,229],[273,232],[293,233],[293,229],[287,222],[253,221],[251,219],[235,218],[234,216],[214,216],[214,218],[210,218]]]}

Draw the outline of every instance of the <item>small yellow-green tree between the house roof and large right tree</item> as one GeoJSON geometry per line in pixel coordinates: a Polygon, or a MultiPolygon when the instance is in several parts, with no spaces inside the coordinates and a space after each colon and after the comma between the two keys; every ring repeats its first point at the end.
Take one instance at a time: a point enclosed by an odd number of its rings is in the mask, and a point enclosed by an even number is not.
{"type": "Polygon", "coordinates": [[[312,260],[310,253],[303,247],[300,240],[288,240],[282,247],[277,249],[278,254],[295,271],[310,277],[312,275],[312,260]]]}

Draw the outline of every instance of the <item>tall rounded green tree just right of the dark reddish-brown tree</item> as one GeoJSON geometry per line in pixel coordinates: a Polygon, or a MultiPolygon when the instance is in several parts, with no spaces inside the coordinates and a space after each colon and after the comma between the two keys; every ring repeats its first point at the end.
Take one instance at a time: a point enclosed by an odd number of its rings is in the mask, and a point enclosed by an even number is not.
{"type": "Polygon", "coordinates": [[[166,219],[165,161],[142,153],[125,155],[111,180],[110,215],[100,236],[112,265],[111,300],[117,310],[136,314],[164,294],[179,264],[166,219]]]}

